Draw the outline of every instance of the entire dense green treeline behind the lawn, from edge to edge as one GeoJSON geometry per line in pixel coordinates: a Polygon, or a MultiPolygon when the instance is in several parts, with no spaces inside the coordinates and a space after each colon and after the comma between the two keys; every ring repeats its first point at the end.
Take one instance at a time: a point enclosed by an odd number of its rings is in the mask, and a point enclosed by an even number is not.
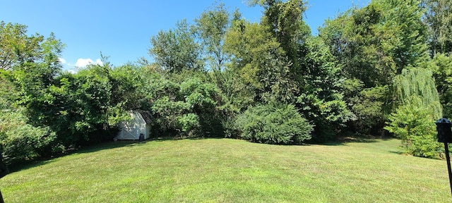
{"type": "Polygon", "coordinates": [[[452,113],[452,2],[373,0],[304,22],[307,2],[255,0],[259,23],[220,4],[150,38],[124,66],[61,70],[53,34],[0,24],[0,146],[9,164],[112,140],[130,110],[153,134],[270,144],[394,135],[436,157],[434,121],[452,113]]]}

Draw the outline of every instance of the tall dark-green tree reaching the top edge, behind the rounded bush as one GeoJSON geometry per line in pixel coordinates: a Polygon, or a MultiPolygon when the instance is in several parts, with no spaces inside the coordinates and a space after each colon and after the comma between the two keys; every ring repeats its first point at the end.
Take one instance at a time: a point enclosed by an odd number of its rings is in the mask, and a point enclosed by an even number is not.
{"type": "Polygon", "coordinates": [[[340,125],[354,116],[343,101],[340,66],[336,66],[325,44],[311,37],[309,27],[304,23],[306,3],[301,0],[262,0],[250,1],[250,4],[259,4],[265,9],[260,26],[273,37],[275,46],[281,50],[279,59],[287,64],[280,72],[285,73],[280,74],[282,77],[278,80],[282,83],[275,82],[275,87],[285,90],[278,92],[278,96],[296,104],[304,116],[314,122],[317,126],[314,140],[331,138],[340,125]],[[321,137],[323,135],[327,136],[321,137]]]}

